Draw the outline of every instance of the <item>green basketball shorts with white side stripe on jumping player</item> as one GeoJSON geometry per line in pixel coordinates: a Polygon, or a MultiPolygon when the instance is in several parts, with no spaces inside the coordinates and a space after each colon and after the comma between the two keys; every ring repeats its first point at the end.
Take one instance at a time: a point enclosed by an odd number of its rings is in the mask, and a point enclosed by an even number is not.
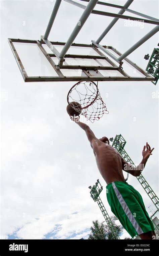
{"type": "Polygon", "coordinates": [[[115,181],[106,186],[111,211],[131,237],[154,231],[140,193],[127,182],[115,181]]]}

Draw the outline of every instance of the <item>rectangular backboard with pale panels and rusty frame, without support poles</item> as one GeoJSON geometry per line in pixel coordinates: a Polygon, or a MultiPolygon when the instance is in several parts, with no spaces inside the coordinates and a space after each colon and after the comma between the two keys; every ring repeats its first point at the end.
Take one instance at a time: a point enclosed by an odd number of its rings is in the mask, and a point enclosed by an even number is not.
{"type": "MultiPolygon", "coordinates": [[[[112,46],[103,46],[106,53],[92,45],[72,44],[59,67],[58,58],[44,41],[9,38],[8,42],[25,82],[154,80],[128,58],[122,61],[122,66],[117,65],[110,54],[119,57],[121,53],[112,46]]],[[[65,45],[61,42],[51,44],[56,51],[65,45]]]]}

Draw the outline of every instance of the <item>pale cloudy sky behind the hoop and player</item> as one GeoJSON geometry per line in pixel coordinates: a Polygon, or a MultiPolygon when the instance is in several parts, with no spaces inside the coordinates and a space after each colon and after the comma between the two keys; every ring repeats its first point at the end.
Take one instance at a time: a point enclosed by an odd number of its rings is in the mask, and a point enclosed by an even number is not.
{"type": "MultiPolygon", "coordinates": [[[[124,5],[126,1],[107,2],[124,5]]],[[[7,42],[8,38],[40,40],[54,3],[0,1],[0,235],[9,239],[87,239],[92,221],[104,221],[88,188],[97,179],[103,186],[100,198],[109,216],[113,215],[106,199],[106,183],[97,169],[85,132],[66,112],[67,93],[75,82],[24,83],[7,42]]],[[[95,9],[104,8],[97,6],[95,9]]],[[[145,0],[134,1],[130,9],[158,17],[158,1],[151,1],[151,4],[145,0]]],[[[105,7],[105,11],[117,13],[119,10],[105,7]]],[[[48,39],[66,42],[82,13],[82,9],[62,1],[48,39]]],[[[111,17],[91,14],[74,42],[90,44],[111,20],[111,17]]],[[[136,27],[118,20],[101,44],[125,52],[154,26],[136,27]]],[[[145,70],[148,61],[144,56],[151,55],[158,41],[155,34],[128,58],[145,70]]],[[[24,50],[22,58],[27,58],[28,54],[24,50]]],[[[44,59],[39,61],[29,56],[24,61],[30,68],[29,74],[37,73],[38,67],[45,74],[50,72],[45,69],[44,59]]],[[[116,134],[121,134],[126,140],[125,150],[135,164],[141,162],[146,142],[154,147],[142,174],[158,194],[158,85],[107,81],[99,82],[98,87],[109,114],[87,124],[97,138],[115,138],[116,134]]],[[[124,176],[126,178],[127,173],[124,176]]],[[[129,175],[128,183],[141,193],[151,216],[155,206],[137,178],[129,175]]],[[[125,237],[129,237],[126,231],[121,238],[125,237]]]]}

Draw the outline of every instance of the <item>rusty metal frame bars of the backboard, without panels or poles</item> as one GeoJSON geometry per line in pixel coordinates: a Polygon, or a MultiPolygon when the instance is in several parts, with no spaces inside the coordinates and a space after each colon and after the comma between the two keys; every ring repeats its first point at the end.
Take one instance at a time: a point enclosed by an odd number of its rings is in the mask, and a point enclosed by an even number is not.
{"type": "MultiPolygon", "coordinates": [[[[58,67],[58,65],[55,64],[52,57],[56,57],[55,54],[49,54],[46,52],[46,50],[43,47],[43,44],[45,42],[40,42],[36,40],[24,40],[24,39],[8,39],[9,45],[12,49],[12,52],[14,54],[14,57],[16,59],[16,62],[18,64],[18,67],[21,71],[21,74],[23,76],[23,79],[25,82],[44,82],[44,81],[153,81],[154,78],[146,73],[142,68],[140,68],[137,64],[129,60],[128,58],[125,58],[125,60],[132,66],[132,68],[137,69],[141,74],[144,76],[130,76],[127,73],[125,73],[122,69],[122,67],[119,65],[117,66],[109,57],[106,57],[98,48],[92,47],[92,45],[86,45],[86,44],[72,44],[72,46],[76,47],[89,47],[90,49],[95,50],[99,55],[75,55],[75,54],[65,54],[65,58],[70,59],[91,59],[95,60],[97,62],[97,66],[86,66],[86,65],[62,65],[61,68],[58,67]],[[19,43],[32,43],[37,44],[37,46],[40,48],[40,50],[45,55],[47,61],[49,61],[52,68],[56,71],[57,76],[28,76],[27,70],[25,70],[20,57],[14,47],[14,42],[19,43]],[[106,60],[111,66],[103,66],[102,63],[100,63],[100,60],[106,60]],[[77,73],[77,76],[65,76],[62,72],[64,69],[77,69],[78,73],[81,70],[81,76],[77,73]],[[122,74],[122,76],[104,76],[102,75],[102,70],[116,70],[119,72],[119,74],[122,74]],[[82,75],[83,74],[83,75],[82,75]]],[[[51,44],[56,47],[57,45],[65,45],[65,43],[61,42],[51,42],[51,44]]],[[[121,55],[120,52],[118,52],[115,48],[112,46],[103,46],[105,49],[111,49],[114,51],[114,53],[121,55]]],[[[65,59],[64,59],[65,60],[65,59]]]]}

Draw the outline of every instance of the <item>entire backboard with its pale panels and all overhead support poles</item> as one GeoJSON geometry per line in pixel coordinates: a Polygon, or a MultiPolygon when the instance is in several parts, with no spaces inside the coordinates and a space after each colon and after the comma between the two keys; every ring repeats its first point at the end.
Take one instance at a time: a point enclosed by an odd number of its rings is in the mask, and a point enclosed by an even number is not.
{"type": "Polygon", "coordinates": [[[40,40],[8,38],[24,81],[154,81],[153,76],[129,60],[127,56],[159,31],[159,20],[128,9],[132,2],[133,0],[127,0],[123,6],[120,6],[98,0],[56,0],[45,35],[41,36],[40,40]],[[80,19],[77,20],[66,43],[51,42],[48,40],[48,36],[60,4],[64,2],[82,8],[84,11],[80,19]],[[85,2],[87,5],[82,4],[85,2]],[[96,4],[118,8],[120,11],[112,13],[95,10],[96,4]],[[142,19],[123,15],[125,11],[141,16],[142,19]],[[92,40],[90,44],[74,43],[76,36],[91,13],[114,18],[96,41],[92,40]],[[119,18],[141,21],[156,26],[121,54],[112,46],[100,45],[101,40],[119,18]]]}

